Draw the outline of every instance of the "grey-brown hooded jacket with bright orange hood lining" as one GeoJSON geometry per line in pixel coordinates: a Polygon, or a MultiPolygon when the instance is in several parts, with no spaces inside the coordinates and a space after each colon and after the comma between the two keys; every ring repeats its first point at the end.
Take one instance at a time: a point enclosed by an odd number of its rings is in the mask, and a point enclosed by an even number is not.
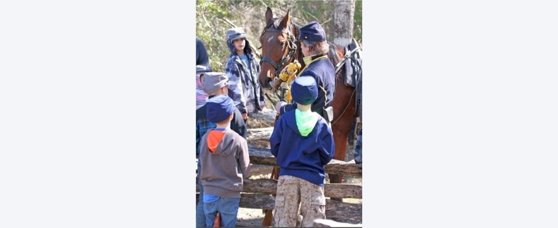
{"type": "Polygon", "coordinates": [[[240,198],[243,178],[248,178],[248,144],[236,132],[210,130],[200,143],[201,184],[204,194],[240,198]]]}

